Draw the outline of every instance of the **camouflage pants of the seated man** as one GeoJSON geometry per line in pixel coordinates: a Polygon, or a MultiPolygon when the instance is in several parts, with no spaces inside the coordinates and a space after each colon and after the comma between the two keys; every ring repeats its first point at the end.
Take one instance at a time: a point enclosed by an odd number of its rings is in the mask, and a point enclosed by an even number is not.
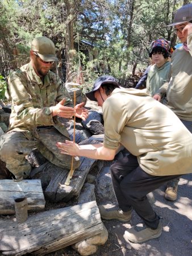
{"type": "MultiPolygon", "coordinates": [[[[72,156],[60,154],[56,142],[64,142],[66,138],[55,127],[39,128],[31,132],[10,131],[0,138],[0,158],[16,179],[30,175],[31,165],[26,160],[33,148],[56,166],[70,169],[72,156]]],[[[80,160],[74,158],[74,169],[80,166],[80,160]]]]}

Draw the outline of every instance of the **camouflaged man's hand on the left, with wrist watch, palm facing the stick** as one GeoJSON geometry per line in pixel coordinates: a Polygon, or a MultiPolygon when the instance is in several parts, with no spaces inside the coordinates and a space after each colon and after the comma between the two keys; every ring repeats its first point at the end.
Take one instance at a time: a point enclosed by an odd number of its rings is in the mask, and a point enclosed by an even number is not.
{"type": "Polygon", "coordinates": [[[64,106],[65,98],[63,98],[56,106],[52,107],[52,117],[58,115],[58,117],[70,118],[75,115],[75,110],[72,107],[64,106]]]}

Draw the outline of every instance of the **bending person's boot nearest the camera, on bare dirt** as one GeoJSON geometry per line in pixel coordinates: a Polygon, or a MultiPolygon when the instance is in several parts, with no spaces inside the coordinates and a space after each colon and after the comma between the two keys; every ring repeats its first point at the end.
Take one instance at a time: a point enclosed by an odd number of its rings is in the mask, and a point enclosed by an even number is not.
{"type": "Polygon", "coordinates": [[[143,243],[153,238],[160,237],[161,232],[162,224],[160,220],[157,229],[151,229],[147,226],[136,226],[126,230],[126,232],[124,232],[123,238],[126,240],[126,242],[130,241],[132,243],[143,243]]]}

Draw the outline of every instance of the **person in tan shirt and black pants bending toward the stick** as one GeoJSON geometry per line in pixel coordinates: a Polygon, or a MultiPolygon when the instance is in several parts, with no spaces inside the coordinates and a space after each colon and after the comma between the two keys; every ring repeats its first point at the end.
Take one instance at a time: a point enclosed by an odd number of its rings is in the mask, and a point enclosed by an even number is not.
{"type": "Polygon", "coordinates": [[[191,172],[192,135],[166,106],[142,90],[120,89],[114,77],[99,77],[86,96],[102,106],[103,143],[80,146],[65,141],[57,142],[57,147],[65,155],[103,160],[114,159],[121,144],[126,147],[130,154],[110,168],[119,209],[103,205],[99,207],[101,217],[129,221],[135,209],[146,226],[140,231],[126,230],[124,239],[141,243],[161,236],[161,219],[146,195],[191,172]]]}

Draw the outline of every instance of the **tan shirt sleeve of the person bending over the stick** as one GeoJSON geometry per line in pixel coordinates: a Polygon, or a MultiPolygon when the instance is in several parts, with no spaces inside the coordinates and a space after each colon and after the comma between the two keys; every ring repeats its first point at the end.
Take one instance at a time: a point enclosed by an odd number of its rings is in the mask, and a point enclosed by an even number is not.
{"type": "Polygon", "coordinates": [[[127,108],[117,97],[109,97],[103,104],[105,136],[103,146],[116,149],[121,143],[121,132],[126,125],[127,108]]]}

